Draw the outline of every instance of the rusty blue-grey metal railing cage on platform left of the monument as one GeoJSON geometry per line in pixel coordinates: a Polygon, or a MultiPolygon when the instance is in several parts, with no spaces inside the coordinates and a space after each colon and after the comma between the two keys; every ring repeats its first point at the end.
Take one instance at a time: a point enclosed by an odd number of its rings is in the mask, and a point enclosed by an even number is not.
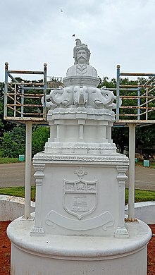
{"type": "MultiPolygon", "coordinates": [[[[45,119],[41,98],[46,97],[46,63],[44,71],[9,71],[5,63],[4,119],[42,121],[45,119]],[[13,74],[43,75],[40,81],[18,81],[13,74]]],[[[45,100],[44,100],[45,102],[45,100]]]]}

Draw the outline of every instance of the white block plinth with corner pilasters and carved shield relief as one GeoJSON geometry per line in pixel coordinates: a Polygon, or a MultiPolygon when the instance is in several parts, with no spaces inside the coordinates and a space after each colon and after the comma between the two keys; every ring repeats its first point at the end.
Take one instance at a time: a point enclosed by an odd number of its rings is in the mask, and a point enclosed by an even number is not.
{"type": "Polygon", "coordinates": [[[39,153],[33,164],[37,201],[31,235],[128,238],[124,223],[128,157],[39,153]]]}

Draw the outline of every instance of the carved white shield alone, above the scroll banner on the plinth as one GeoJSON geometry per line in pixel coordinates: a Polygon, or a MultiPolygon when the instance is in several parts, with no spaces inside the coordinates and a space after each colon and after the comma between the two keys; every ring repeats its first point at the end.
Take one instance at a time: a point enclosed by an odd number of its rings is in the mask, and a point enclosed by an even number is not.
{"type": "Polygon", "coordinates": [[[97,207],[98,181],[65,181],[63,184],[63,208],[69,214],[81,219],[97,207]]]}

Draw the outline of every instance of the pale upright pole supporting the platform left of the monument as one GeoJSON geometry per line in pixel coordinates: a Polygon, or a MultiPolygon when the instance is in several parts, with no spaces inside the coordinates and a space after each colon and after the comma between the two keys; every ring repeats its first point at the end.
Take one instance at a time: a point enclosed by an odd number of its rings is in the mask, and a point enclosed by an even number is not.
{"type": "Polygon", "coordinates": [[[25,219],[30,217],[31,200],[31,159],[32,159],[32,121],[26,121],[25,148],[25,219]]]}

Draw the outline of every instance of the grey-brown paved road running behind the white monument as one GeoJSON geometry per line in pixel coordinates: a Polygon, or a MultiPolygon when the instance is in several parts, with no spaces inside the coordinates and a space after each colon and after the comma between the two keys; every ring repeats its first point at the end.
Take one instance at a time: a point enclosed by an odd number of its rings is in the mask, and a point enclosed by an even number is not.
{"type": "MultiPolygon", "coordinates": [[[[32,167],[31,184],[35,185],[32,167]]],[[[25,163],[0,164],[0,187],[24,186],[25,185],[25,163]]],[[[155,190],[155,169],[136,166],[135,187],[137,189],[155,190]]]]}

